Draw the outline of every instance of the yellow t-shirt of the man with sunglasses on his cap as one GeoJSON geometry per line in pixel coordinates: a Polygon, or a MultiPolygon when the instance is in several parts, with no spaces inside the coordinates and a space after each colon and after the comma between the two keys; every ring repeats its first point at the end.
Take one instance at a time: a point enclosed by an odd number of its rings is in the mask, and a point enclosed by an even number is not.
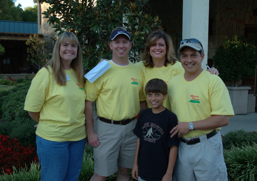
{"type": "MultiPolygon", "coordinates": [[[[227,87],[221,78],[206,70],[193,81],[186,81],[184,74],[172,78],[168,95],[171,110],[177,115],[179,122],[199,121],[211,115],[234,115],[227,87]]],[[[198,137],[211,131],[213,130],[194,130],[183,137],[198,137]]]]}

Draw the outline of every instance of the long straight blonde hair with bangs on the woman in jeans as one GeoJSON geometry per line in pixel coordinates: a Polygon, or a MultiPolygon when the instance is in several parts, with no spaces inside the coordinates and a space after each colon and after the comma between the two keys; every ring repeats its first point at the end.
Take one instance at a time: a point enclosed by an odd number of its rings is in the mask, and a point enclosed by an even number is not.
{"type": "MultiPolygon", "coordinates": [[[[66,85],[66,75],[65,69],[60,59],[60,46],[65,41],[69,40],[71,44],[77,45],[77,57],[74,58],[71,62],[71,68],[76,72],[77,80],[81,85],[84,84],[84,70],[82,65],[82,51],[77,36],[71,32],[63,32],[54,44],[53,56],[49,62],[44,66],[48,69],[48,65],[53,69],[53,74],[57,84],[60,86],[66,85]]],[[[48,70],[49,71],[49,70],[48,70]]]]}

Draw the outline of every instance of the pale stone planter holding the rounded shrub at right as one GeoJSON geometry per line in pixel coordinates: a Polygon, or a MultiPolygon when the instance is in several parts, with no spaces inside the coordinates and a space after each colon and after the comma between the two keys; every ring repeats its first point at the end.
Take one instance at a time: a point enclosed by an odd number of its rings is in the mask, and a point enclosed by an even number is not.
{"type": "Polygon", "coordinates": [[[229,96],[231,103],[234,109],[235,114],[246,114],[247,113],[247,99],[248,99],[248,90],[251,87],[231,87],[228,88],[229,96]]]}

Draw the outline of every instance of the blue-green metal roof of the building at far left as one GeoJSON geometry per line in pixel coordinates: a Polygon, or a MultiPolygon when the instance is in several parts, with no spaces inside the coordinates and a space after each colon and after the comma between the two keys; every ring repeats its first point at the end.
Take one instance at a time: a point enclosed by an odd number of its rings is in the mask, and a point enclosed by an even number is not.
{"type": "Polygon", "coordinates": [[[0,20],[0,32],[37,34],[38,23],[0,20]]]}

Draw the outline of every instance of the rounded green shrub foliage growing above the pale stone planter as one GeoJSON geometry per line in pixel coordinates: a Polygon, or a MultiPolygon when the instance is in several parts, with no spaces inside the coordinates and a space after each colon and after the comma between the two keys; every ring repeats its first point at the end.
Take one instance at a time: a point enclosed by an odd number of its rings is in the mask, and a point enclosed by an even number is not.
{"type": "Polygon", "coordinates": [[[220,72],[220,78],[237,87],[240,79],[255,74],[257,47],[254,42],[247,42],[243,35],[230,36],[222,43],[213,61],[220,72]]]}

